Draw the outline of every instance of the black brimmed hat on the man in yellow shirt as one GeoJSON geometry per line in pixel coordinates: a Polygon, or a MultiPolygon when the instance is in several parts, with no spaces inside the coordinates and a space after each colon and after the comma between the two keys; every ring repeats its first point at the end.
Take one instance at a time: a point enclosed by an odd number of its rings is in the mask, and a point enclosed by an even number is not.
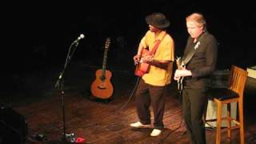
{"type": "Polygon", "coordinates": [[[146,23],[158,29],[164,29],[170,26],[170,22],[166,19],[166,16],[161,13],[153,13],[146,16],[146,23]]]}

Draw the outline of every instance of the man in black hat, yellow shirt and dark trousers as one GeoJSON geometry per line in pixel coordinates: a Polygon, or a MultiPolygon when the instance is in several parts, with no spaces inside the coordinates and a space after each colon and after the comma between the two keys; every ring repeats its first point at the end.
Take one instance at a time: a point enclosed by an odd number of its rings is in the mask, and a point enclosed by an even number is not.
{"type": "Polygon", "coordinates": [[[138,114],[138,122],[131,123],[135,128],[151,126],[150,104],[154,112],[153,131],[150,136],[161,134],[164,124],[162,122],[165,103],[166,85],[171,82],[174,62],[174,40],[166,33],[170,26],[169,20],[161,13],[153,13],[146,17],[149,29],[138,46],[138,54],[134,56],[134,63],[139,65],[147,63],[150,66],[146,74],[141,75],[138,88],[135,93],[135,103],[138,114]],[[155,47],[157,47],[155,49],[155,47]],[[155,52],[142,56],[142,51],[147,49],[155,52]]]}

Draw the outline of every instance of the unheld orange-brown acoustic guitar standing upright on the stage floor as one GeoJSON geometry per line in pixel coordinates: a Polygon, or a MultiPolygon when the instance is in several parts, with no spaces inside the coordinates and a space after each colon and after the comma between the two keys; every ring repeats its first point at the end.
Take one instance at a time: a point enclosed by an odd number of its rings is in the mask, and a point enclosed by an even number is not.
{"type": "Polygon", "coordinates": [[[110,98],[114,91],[113,85],[110,82],[112,73],[110,70],[106,70],[106,59],[109,46],[110,38],[106,38],[102,69],[96,70],[96,79],[90,86],[91,94],[96,98],[110,98]]]}

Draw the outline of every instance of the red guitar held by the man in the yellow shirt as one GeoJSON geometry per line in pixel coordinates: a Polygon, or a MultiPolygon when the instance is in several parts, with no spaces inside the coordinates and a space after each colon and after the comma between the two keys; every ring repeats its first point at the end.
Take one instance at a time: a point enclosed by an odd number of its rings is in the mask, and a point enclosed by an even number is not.
{"type": "MultiPolygon", "coordinates": [[[[146,48],[143,48],[140,59],[146,58],[147,56],[149,56],[149,54],[150,54],[150,51],[147,50],[146,48]]],[[[134,74],[139,77],[142,77],[144,74],[147,74],[149,71],[150,71],[150,63],[145,63],[145,62],[142,62],[142,60],[140,60],[140,62],[138,62],[138,64],[136,65],[134,74]]]]}

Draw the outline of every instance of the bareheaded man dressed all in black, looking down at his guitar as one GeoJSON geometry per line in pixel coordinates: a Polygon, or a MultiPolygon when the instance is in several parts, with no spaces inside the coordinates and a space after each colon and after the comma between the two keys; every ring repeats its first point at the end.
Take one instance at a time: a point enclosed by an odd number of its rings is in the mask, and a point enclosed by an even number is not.
{"type": "Polygon", "coordinates": [[[174,79],[183,77],[182,109],[186,122],[186,130],[192,143],[206,143],[205,125],[202,115],[206,108],[206,86],[210,74],[214,72],[217,62],[217,41],[206,31],[206,20],[202,14],[194,13],[186,17],[186,27],[190,37],[182,60],[194,55],[186,63],[186,68],[176,70],[174,79]]]}

